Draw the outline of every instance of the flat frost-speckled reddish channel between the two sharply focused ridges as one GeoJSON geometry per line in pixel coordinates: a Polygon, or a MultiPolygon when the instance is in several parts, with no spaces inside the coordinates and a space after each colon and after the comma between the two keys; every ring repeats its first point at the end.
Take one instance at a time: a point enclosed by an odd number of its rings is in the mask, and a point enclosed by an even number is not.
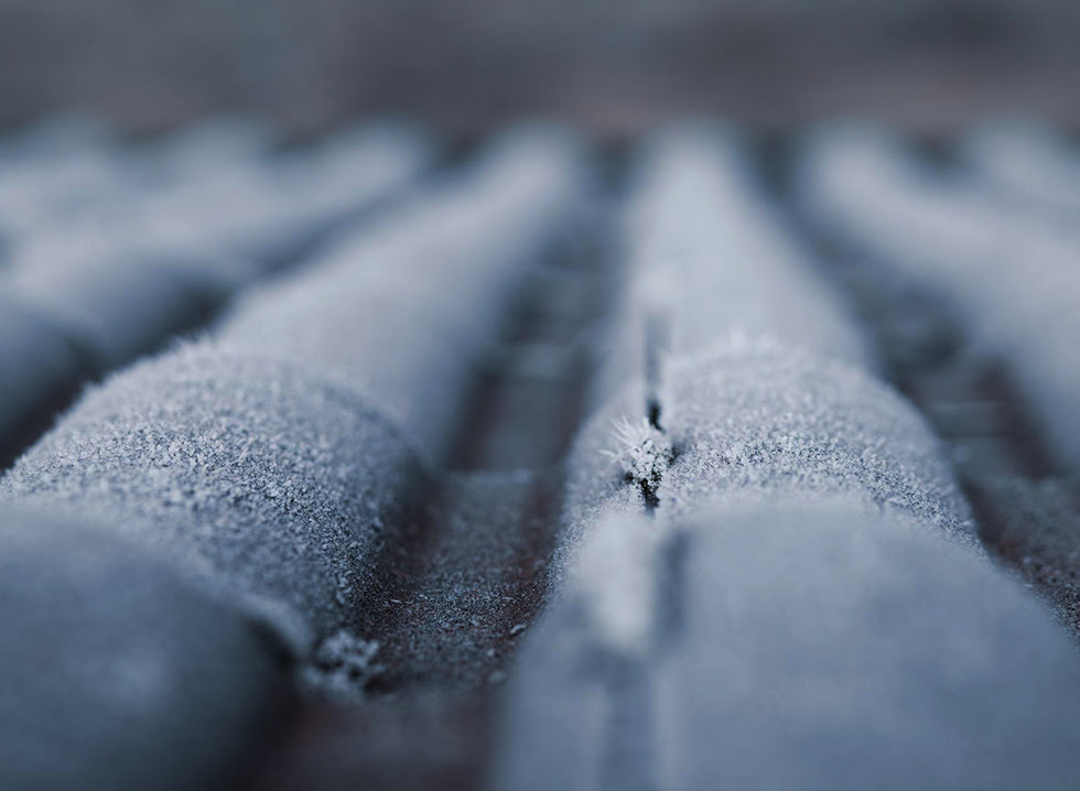
{"type": "Polygon", "coordinates": [[[501,683],[542,598],[554,484],[522,470],[441,484],[431,533],[389,560],[408,573],[390,575],[376,661],[384,684],[461,697],[501,683]]]}

